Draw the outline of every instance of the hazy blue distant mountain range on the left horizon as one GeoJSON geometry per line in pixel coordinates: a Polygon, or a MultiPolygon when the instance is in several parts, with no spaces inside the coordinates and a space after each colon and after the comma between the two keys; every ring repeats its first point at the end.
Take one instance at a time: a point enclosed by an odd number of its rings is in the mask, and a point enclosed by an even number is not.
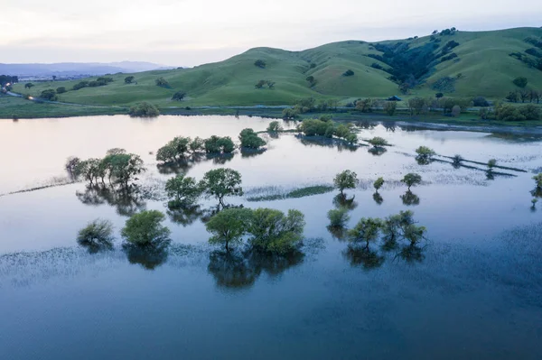
{"type": "Polygon", "coordinates": [[[74,77],[81,75],[97,76],[116,74],[117,72],[141,72],[156,69],[173,69],[163,65],[143,61],[120,62],[60,62],[53,64],[2,64],[0,74],[19,77],[74,77]]]}

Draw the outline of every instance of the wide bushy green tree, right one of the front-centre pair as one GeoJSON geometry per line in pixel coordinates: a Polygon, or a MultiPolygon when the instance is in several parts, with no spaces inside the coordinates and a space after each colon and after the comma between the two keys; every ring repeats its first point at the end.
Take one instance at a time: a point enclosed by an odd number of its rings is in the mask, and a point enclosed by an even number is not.
{"type": "Polygon", "coordinates": [[[248,234],[250,244],[257,250],[272,254],[293,252],[303,240],[304,215],[290,209],[288,215],[271,208],[252,211],[248,234]]]}

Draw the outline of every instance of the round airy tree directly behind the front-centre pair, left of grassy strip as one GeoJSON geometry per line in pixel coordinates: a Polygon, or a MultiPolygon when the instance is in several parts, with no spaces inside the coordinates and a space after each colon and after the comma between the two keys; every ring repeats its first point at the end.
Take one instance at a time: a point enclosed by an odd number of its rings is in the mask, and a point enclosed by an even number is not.
{"type": "Polygon", "coordinates": [[[219,204],[223,207],[226,196],[243,195],[241,174],[228,168],[207,171],[201,180],[201,189],[207,196],[218,198],[219,204]]]}

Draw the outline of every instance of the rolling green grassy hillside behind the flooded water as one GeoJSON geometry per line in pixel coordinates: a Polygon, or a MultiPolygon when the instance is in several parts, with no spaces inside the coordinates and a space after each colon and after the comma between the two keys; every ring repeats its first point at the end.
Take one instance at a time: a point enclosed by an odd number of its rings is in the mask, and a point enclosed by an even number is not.
{"type": "Polygon", "coordinates": [[[129,106],[144,100],[163,108],[287,105],[311,96],[342,100],[389,97],[399,93],[398,83],[412,78],[412,72],[416,81],[409,96],[444,92],[453,97],[500,99],[515,89],[512,80],[518,77],[528,78],[528,88],[542,90],[542,70],[529,68],[509,56],[533,48],[524,41],[529,36],[542,41],[542,29],[455,32],[377,43],[336,42],[307,51],[257,48],[192,69],[136,73],[134,84],[125,84],[128,74],[117,74],[112,75],[114,82],[97,88],[71,90],[77,80],[36,83],[30,91],[23,88],[24,84],[17,84],[14,91],[39,96],[44,89],[65,87],[69,91],[59,96],[61,101],[87,105],[129,106]],[[444,55],[454,53],[455,58],[441,61],[449,42],[459,45],[444,55]],[[255,66],[256,60],[266,61],[266,67],[255,66]],[[343,76],[347,69],[354,75],[343,76]],[[395,82],[390,79],[392,74],[398,77],[395,82]],[[160,77],[171,88],[157,87],[155,79],[160,77]],[[313,83],[306,80],[308,77],[314,78],[313,83]],[[435,89],[435,83],[443,78],[448,78],[448,86],[435,89]],[[258,80],[271,80],[276,83],[275,88],[257,89],[258,80]],[[187,97],[181,102],[171,100],[179,90],[186,91],[187,97]]]}

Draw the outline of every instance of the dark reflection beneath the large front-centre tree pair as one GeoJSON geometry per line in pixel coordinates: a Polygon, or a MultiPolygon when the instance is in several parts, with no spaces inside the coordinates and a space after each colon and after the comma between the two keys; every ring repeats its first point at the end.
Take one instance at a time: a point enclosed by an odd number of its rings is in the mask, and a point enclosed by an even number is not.
{"type": "Polygon", "coordinates": [[[303,263],[300,251],[277,255],[254,250],[247,252],[214,251],[209,255],[207,267],[218,287],[239,290],[251,287],[262,272],[278,276],[287,269],[303,263]]]}

